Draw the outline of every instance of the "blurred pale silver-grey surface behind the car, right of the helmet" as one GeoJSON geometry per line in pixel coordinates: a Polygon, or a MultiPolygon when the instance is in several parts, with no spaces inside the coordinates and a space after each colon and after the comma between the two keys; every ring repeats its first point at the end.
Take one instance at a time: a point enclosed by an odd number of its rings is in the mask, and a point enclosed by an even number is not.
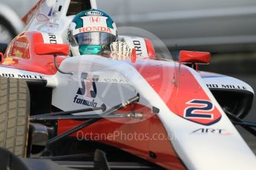
{"type": "Polygon", "coordinates": [[[157,35],[171,50],[252,51],[255,0],[97,0],[118,26],[157,35]]]}

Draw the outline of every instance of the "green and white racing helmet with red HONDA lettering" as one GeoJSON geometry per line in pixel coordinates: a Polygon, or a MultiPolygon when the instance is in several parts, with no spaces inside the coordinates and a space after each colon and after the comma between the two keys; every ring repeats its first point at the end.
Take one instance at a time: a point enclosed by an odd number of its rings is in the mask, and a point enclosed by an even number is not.
{"type": "Polygon", "coordinates": [[[116,41],[116,24],[102,10],[85,10],[70,23],[68,41],[72,55],[93,55],[116,41]]]}

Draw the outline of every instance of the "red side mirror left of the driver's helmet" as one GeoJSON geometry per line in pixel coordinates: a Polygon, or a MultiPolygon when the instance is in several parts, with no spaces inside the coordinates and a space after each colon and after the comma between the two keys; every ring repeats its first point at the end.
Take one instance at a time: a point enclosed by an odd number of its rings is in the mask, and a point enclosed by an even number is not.
{"type": "Polygon", "coordinates": [[[37,55],[68,55],[68,44],[36,44],[35,52],[37,55]]]}

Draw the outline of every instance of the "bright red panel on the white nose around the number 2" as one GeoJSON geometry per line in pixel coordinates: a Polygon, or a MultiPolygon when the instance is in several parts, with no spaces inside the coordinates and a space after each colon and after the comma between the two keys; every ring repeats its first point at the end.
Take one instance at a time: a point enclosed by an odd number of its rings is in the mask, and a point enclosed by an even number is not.
{"type": "MultiPolygon", "coordinates": [[[[163,66],[163,64],[137,64],[137,70],[140,74],[148,81],[148,84],[157,92],[160,98],[166,103],[171,112],[185,118],[184,112],[188,107],[193,106],[193,104],[188,104],[192,100],[201,100],[211,102],[209,96],[206,94],[202,86],[197,82],[194,75],[188,70],[187,67],[163,66]],[[180,75],[178,75],[180,72],[180,75]],[[175,73],[175,76],[174,76],[175,73]],[[174,78],[174,79],[173,79],[174,78]],[[174,82],[175,80],[175,82],[174,82]]],[[[212,103],[212,102],[211,102],[212,103]]],[[[221,118],[220,111],[214,106],[213,109],[209,111],[197,111],[212,115],[213,118],[185,118],[191,120],[195,123],[200,123],[203,125],[211,125],[216,123],[221,118]]],[[[198,105],[194,104],[198,107],[198,105]]]]}

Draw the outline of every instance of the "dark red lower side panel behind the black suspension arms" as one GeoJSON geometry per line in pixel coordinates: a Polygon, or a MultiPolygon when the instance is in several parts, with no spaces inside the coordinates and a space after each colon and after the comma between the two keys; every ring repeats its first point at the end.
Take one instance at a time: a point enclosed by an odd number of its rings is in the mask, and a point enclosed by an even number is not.
{"type": "MultiPolygon", "coordinates": [[[[119,113],[142,112],[141,120],[134,118],[102,119],[85,129],[74,133],[73,137],[96,140],[142,157],[165,169],[186,169],[174,152],[160,119],[151,109],[139,104],[128,106],[119,113]],[[150,157],[154,152],[157,157],[150,157]]],[[[59,120],[58,135],[82,123],[76,120],[59,120]]],[[[175,140],[175,139],[174,139],[175,140]]]]}

